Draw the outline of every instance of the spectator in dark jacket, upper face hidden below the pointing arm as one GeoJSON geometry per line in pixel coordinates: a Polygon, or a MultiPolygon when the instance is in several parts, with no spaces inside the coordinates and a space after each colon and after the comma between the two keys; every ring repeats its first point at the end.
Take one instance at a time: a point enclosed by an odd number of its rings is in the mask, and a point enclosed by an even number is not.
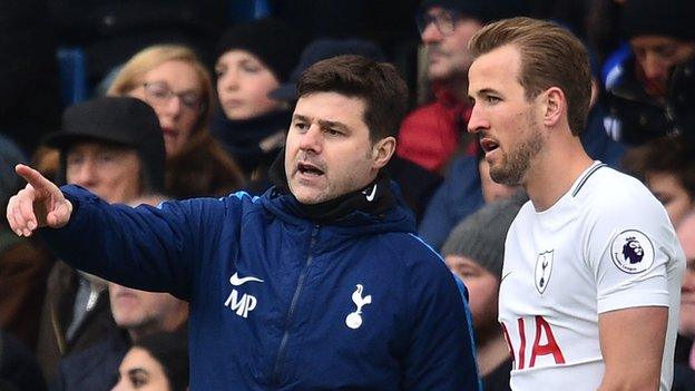
{"type": "MultiPolygon", "coordinates": [[[[109,283],[108,287],[119,332],[104,335],[98,344],[62,359],[51,390],[107,390],[114,385],[114,374],[130,342],[137,344],[154,333],[185,329],[188,303],[168,293],[138,291],[115,283],[109,283]]],[[[185,343],[185,333],[178,339],[179,343],[185,343]]]]}

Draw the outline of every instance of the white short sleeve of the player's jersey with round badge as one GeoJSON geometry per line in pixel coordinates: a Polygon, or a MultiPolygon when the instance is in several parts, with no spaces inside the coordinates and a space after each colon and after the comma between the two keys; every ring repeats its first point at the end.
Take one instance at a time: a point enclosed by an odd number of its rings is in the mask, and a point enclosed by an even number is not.
{"type": "Polygon", "coordinates": [[[596,280],[597,311],[668,306],[667,265],[674,232],[656,199],[632,194],[594,208],[585,226],[585,261],[596,280]]]}

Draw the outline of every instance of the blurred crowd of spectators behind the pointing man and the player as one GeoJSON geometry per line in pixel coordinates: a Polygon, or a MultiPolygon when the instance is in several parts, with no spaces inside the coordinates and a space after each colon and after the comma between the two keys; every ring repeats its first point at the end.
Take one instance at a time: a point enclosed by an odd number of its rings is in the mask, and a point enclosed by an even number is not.
{"type": "MultiPolygon", "coordinates": [[[[587,153],[644,182],[686,252],[674,390],[695,390],[695,3],[248,2],[266,14],[235,14],[238,4],[223,0],[0,1],[0,206],[22,186],[13,167],[26,162],[109,203],[260,195],[272,186],[302,71],[345,53],[393,62],[412,107],[386,172],[420,236],[469,289],[486,390],[506,390],[497,290],[506,232],[527,198],[491,180],[467,133],[467,45],[490,21],[551,19],[593,53],[587,153]],[[80,56],[59,66],[66,50],[80,56]],[[79,80],[65,76],[80,66],[88,92],[74,101],[66,91],[79,80]]],[[[2,390],[127,390],[143,381],[185,390],[187,311],[168,294],[74,270],[40,237],[0,223],[2,390]]]]}

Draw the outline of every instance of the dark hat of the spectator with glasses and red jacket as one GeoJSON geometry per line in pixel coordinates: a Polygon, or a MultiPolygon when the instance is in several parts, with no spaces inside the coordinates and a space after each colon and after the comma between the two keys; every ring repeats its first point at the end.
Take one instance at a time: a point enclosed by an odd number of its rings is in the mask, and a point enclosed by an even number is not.
{"type": "Polygon", "coordinates": [[[423,0],[420,3],[421,12],[433,7],[459,11],[482,25],[528,13],[526,1],[521,0],[423,0]]]}

